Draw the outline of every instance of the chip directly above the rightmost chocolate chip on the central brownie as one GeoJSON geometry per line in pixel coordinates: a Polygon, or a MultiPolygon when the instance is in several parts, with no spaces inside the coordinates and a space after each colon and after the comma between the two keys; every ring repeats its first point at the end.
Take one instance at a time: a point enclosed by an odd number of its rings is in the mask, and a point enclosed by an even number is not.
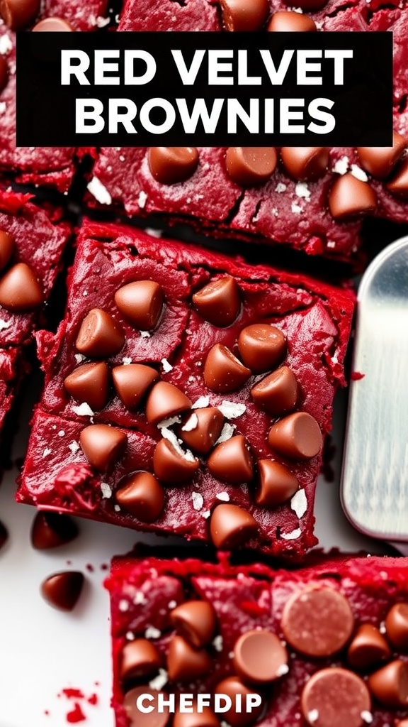
{"type": "Polygon", "coordinates": [[[281,366],[252,387],[250,395],[256,406],[272,416],[280,417],[295,409],[299,387],[295,374],[281,366]]]}

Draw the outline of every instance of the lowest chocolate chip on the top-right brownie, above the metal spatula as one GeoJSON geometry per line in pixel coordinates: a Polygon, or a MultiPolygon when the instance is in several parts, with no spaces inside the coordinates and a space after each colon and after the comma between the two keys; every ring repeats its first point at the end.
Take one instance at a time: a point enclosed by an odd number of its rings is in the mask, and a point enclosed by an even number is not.
{"type": "Polygon", "coordinates": [[[368,182],[356,179],[353,174],[343,174],[333,183],[328,203],[335,220],[346,220],[374,212],[377,196],[368,182]]]}

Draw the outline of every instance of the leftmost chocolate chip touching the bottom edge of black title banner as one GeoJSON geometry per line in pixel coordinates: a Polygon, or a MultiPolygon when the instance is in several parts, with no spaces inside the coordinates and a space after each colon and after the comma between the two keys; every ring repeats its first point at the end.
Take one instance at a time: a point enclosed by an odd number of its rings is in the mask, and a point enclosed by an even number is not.
{"type": "Polygon", "coordinates": [[[147,164],[156,182],[185,182],[197,169],[198,152],[192,146],[154,146],[147,155],[147,164]]]}

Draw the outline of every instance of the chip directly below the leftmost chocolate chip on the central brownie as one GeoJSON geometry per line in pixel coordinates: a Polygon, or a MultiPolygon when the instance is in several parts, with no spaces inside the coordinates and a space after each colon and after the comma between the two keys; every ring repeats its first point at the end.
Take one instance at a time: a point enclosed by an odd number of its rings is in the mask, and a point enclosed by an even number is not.
{"type": "Polygon", "coordinates": [[[107,424],[91,424],[81,431],[79,443],[89,464],[104,472],[122,456],[127,436],[107,424]]]}

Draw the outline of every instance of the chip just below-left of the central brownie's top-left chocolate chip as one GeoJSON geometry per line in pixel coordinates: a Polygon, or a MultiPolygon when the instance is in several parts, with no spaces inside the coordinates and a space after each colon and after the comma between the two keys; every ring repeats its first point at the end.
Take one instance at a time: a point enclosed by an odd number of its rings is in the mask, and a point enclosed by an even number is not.
{"type": "Polygon", "coordinates": [[[106,310],[92,308],[83,318],[76,339],[76,350],[84,356],[113,356],[125,342],[121,326],[106,310]]]}

